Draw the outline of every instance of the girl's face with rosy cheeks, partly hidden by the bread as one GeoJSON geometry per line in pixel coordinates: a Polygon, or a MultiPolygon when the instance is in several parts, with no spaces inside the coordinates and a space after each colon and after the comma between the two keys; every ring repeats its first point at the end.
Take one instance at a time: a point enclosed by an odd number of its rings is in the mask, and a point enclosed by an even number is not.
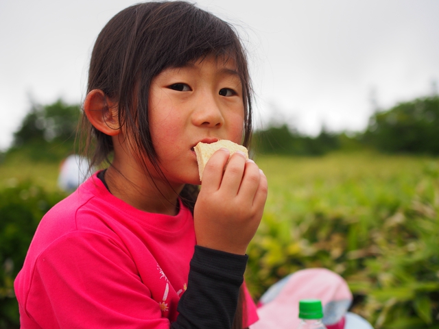
{"type": "Polygon", "coordinates": [[[244,99],[233,60],[210,56],[165,69],[152,80],[152,143],[171,184],[200,184],[193,147],[228,139],[241,143],[244,99]]]}

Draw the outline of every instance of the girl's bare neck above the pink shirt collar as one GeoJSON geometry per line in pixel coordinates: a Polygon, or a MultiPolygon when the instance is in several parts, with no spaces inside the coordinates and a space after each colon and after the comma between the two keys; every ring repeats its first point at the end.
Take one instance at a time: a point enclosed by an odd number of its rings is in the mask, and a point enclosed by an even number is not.
{"type": "Polygon", "coordinates": [[[163,181],[155,182],[156,186],[145,173],[114,162],[106,170],[105,181],[112,195],[134,208],[171,216],[178,213],[178,194],[183,186],[173,188],[163,181]]]}

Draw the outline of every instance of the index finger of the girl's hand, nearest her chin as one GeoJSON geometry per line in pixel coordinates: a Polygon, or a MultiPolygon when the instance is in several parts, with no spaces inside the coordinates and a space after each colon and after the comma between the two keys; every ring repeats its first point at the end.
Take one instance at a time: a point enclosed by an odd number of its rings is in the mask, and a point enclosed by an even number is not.
{"type": "Polygon", "coordinates": [[[221,186],[222,174],[229,156],[230,151],[221,148],[215,151],[207,161],[203,171],[202,188],[204,188],[204,191],[217,191],[221,186]]]}

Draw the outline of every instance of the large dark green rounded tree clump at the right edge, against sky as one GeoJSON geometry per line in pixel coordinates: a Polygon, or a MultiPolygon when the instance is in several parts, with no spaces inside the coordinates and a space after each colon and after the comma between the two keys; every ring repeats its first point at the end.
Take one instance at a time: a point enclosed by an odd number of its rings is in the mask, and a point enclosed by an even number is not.
{"type": "Polygon", "coordinates": [[[439,97],[399,103],[370,117],[363,140],[385,152],[439,154],[439,97]]]}

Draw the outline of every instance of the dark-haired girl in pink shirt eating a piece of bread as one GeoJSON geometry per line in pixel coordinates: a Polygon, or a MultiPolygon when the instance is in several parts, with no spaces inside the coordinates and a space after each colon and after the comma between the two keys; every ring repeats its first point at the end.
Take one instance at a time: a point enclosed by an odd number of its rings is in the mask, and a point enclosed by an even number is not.
{"type": "Polygon", "coordinates": [[[251,88],[233,27],[185,2],[117,14],[91,56],[91,166],[51,209],[15,281],[22,328],[243,328],[243,284],[267,181],[220,149],[198,193],[193,147],[248,145],[251,88]],[[92,143],[95,140],[95,143],[92,143]],[[234,321],[235,320],[235,321],[234,321]]]}

